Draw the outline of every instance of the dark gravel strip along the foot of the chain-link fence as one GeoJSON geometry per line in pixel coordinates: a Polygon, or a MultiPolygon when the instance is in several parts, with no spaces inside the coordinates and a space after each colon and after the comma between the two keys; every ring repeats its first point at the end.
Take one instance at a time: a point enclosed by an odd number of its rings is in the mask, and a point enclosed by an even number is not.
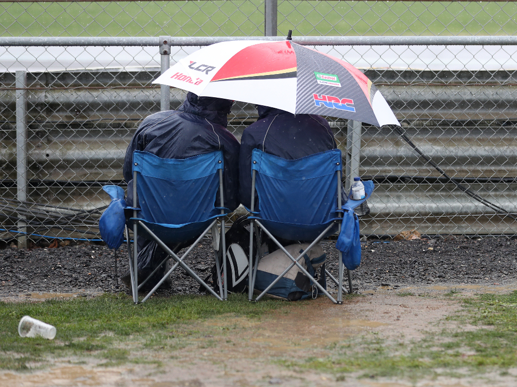
{"type": "MultiPolygon", "coordinates": [[[[31,297],[37,293],[129,294],[120,278],[117,281],[113,250],[103,244],[67,243],[53,241],[47,247],[41,243],[32,249],[17,249],[11,243],[0,250],[0,298],[31,297]]],[[[323,245],[329,258],[327,268],[336,274],[333,243],[323,245]]],[[[357,287],[354,290],[359,292],[381,286],[505,285],[514,282],[517,268],[517,240],[506,238],[377,240],[361,246],[361,266],[352,272],[354,288],[357,287]]],[[[187,262],[204,278],[210,273],[213,257],[209,241],[203,241],[187,262]]],[[[118,277],[128,269],[127,261],[123,245],[117,252],[118,277]]],[[[199,293],[199,285],[183,270],[176,270],[171,280],[172,289],[159,290],[158,294],[199,293]]],[[[328,287],[335,289],[332,285],[328,287]]]]}

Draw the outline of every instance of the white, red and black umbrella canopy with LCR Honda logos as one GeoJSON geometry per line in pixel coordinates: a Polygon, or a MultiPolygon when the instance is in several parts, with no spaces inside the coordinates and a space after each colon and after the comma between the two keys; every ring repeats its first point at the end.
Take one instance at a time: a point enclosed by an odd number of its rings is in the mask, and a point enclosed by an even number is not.
{"type": "Polygon", "coordinates": [[[234,40],[211,44],[161,74],[153,83],[199,96],[400,125],[381,92],[343,60],[290,40],[234,40]]]}

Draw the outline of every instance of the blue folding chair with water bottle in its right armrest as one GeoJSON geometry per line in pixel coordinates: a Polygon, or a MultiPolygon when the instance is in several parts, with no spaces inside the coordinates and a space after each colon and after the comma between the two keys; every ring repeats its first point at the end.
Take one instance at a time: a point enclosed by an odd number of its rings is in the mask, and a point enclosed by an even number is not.
{"type": "MultiPolygon", "coordinates": [[[[312,154],[301,159],[285,160],[271,154],[254,149],[251,163],[251,235],[250,260],[253,257],[253,225],[257,226],[256,235],[263,231],[278,247],[292,260],[286,268],[255,301],[260,300],[280,279],[295,265],[309,277],[312,283],[332,302],[341,304],[343,301],[343,260],[339,252],[338,280],[328,270],[329,275],[338,285],[338,300],[336,301],[327,290],[302,266],[300,260],[312,247],[332,234],[340,233],[342,221],[341,194],[341,151],[332,149],[312,154]],[[255,211],[255,189],[258,195],[258,211],[255,211]],[[307,249],[297,257],[290,255],[276,237],[287,240],[312,240],[307,249]]],[[[356,202],[354,200],[354,202],[356,202]]],[[[354,207],[360,202],[354,204],[354,207]]],[[[261,245],[257,237],[258,246],[261,245]]],[[[248,298],[253,299],[258,260],[262,258],[258,249],[257,259],[249,276],[248,298]]],[[[352,279],[348,272],[348,285],[352,289],[352,279]]],[[[344,289],[346,291],[346,289],[344,289]]]]}

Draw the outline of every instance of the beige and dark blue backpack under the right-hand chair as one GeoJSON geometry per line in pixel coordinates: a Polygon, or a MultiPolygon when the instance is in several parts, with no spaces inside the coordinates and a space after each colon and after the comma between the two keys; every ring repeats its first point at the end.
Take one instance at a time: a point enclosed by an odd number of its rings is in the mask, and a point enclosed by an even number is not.
{"type": "MultiPolygon", "coordinates": [[[[296,243],[286,246],[285,250],[287,250],[292,257],[296,258],[300,253],[307,249],[308,246],[308,243],[296,243]]],[[[299,260],[300,265],[314,278],[316,278],[316,269],[322,267],[321,279],[318,282],[325,288],[325,271],[323,269],[323,265],[325,264],[327,257],[323,251],[323,247],[316,244],[303,258],[305,259],[299,260]]],[[[285,255],[282,250],[276,250],[263,257],[258,262],[254,290],[262,292],[285,269],[287,269],[292,262],[293,261],[285,255]]],[[[279,282],[275,284],[275,286],[269,289],[267,294],[283,300],[298,301],[304,300],[309,296],[317,296],[317,288],[314,290],[313,287],[315,288],[310,278],[303,274],[297,266],[294,266],[284,275],[283,278],[280,279],[279,282]]]]}

